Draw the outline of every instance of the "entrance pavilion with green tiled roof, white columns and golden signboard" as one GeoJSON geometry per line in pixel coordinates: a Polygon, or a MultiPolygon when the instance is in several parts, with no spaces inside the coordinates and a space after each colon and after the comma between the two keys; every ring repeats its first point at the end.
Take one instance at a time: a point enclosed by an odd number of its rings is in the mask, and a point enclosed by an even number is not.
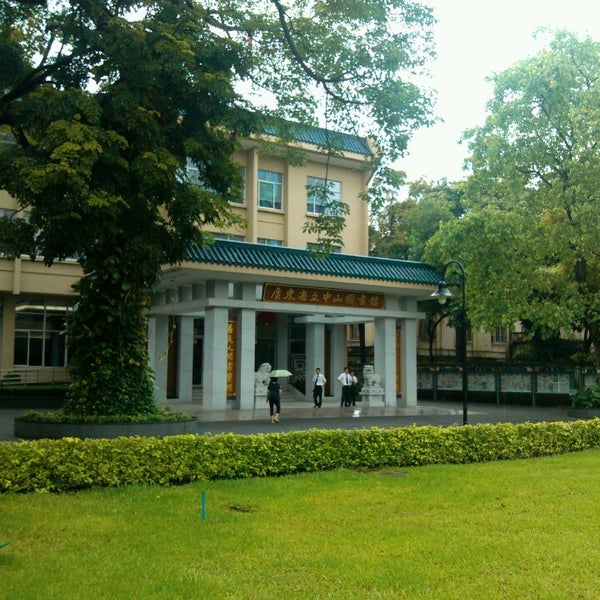
{"type": "MultiPolygon", "coordinates": [[[[311,398],[315,367],[330,390],[347,362],[347,325],[373,323],[374,368],[386,406],[417,402],[417,300],[439,273],[420,262],[217,240],[192,248],[166,269],[149,319],[150,365],[159,402],[192,402],[201,352],[202,408],[254,408],[260,354],[257,319],[275,327],[273,368],[304,370],[311,398]],[[195,324],[203,325],[198,338],[195,324]],[[292,325],[303,325],[304,357],[290,352],[292,325]],[[194,345],[201,345],[194,351],[194,345]],[[327,354],[327,355],[326,355],[327,354]],[[290,361],[296,361],[291,364],[290,361]],[[304,363],[304,364],[302,364],[304,363]]],[[[197,328],[196,328],[197,329],[197,328]]],[[[312,400],[312,398],[311,398],[312,400]]]]}

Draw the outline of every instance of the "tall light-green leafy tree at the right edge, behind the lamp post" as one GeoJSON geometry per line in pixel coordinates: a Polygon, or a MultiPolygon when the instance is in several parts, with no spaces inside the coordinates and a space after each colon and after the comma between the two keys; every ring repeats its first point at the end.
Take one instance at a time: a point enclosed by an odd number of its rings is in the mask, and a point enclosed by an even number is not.
{"type": "Polygon", "coordinates": [[[466,214],[426,254],[466,266],[476,327],[586,330],[600,348],[599,76],[600,45],[557,32],[493,78],[485,124],[466,134],[466,214]]]}

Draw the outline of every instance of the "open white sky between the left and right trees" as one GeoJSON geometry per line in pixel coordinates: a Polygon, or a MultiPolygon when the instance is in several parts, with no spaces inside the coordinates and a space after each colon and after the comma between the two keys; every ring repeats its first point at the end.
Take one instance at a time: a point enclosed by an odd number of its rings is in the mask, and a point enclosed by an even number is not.
{"type": "Polygon", "coordinates": [[[398,163],[408,181],[464,179],[465,129],[483,124],[492,86],[486,77],[536,53],[539,27],[589,34],[600,41],[599,0],[423,0],[438,19],[438,58],[430,86],[443,123],[419,130],[398,163]]]}

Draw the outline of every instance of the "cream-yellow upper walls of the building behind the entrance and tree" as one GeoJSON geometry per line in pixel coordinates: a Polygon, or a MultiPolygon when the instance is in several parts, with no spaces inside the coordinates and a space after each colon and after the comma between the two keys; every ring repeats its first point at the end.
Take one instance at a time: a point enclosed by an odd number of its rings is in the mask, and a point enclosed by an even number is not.
{"type": "MultiPolygon", "coordinates": [[[[344,253],[368,253],[368,207],[360,199],[366,189],[370,171],[364,156],[349,155],[327,159],[314,147],[299,146],[305,152],[302,165],[290,165],[283,158],[264,156],[258,143],[246,140],[236,152],[234,160],[245,170],[245,201],[232,204],[232,210],[246,219],[247,228],[231,228],[226,233],[245,241],[257,242],[260,238],[279,240],[282,245],[305,249],[316,242],[314,235],[302,231],[303,224],[314,216],[307,213],[307,176],[340,181],[342,200],[350,207],[344,237],[344,253]],[[259,169],[283,175],[283,205],[281,210],[259,207],[257,173],[259,169]]],[[[18,204],[5,190],[0,190],[0,214],[14,211],[18,204]]],[[[23,216],[23,215],[20,215],[23,216]]],[[[74,299],[72,286],[81,277],[76,261],[61,261],[47,267],[43,261],[21,257],[9,260],[0,254],[0,371],[15,368],[15,321],[23,304],[44,305],[46,299],[62,299],[67,306],[74,299]]],[[[1,376],[1,373],[0,373],[1,376]]]]}

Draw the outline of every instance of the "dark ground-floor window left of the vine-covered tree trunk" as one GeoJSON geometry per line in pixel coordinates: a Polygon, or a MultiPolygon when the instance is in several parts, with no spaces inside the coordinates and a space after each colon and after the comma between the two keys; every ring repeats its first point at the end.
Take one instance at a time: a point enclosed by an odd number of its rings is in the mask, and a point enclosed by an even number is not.
{"type": "Polygon", "coordinates": [[[15,365],[66,366],[66,316],[66,306],[21,300],[15,316],[15,365]]]}

